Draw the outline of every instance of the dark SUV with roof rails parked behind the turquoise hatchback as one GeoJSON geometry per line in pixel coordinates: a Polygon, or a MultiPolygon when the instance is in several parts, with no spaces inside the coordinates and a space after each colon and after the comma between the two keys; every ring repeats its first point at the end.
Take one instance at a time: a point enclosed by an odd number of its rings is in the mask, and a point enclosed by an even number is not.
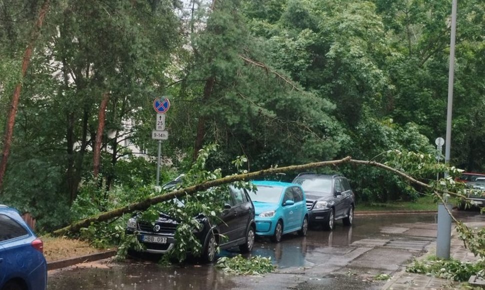
{"type": "Polygon", "coordinates": [[[309,223],[323,224],[332,230],[336,219],[351,225],[355,206],[354,194],[347,178],[339,175],[300,173],[293,183],[300,184],[306,193],[309,223]]]}

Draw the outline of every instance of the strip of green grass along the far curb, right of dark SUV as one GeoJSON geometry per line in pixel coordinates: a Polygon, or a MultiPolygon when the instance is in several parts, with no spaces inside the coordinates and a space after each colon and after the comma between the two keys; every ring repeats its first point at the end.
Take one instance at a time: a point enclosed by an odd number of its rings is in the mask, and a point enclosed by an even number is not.
{"type": "Polygon", "coordinates": [[[360,203],[355,206],[355,211],[390,211],[390,210],[435,210],[438,205],[433,201],[433,197],[426,195],[419,197],[415,201],[389,201],[386,203],[360,203]]]}

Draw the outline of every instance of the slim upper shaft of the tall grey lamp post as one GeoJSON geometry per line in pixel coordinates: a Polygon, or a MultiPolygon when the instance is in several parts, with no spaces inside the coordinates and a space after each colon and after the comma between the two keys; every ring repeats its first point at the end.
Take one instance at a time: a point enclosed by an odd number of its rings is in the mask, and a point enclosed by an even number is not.
{"type": "Polygon", "coordinates": [[[449,41],[448,109],[446,112],[446,144],[445,144],[445,156],[444,156],[445,163],[449,163],[449,151],[451,147],[451,113],[452,113],[452,107],[453,107],[453,78],[454,78],[454,42],[456,37],[455,35],[456,35],[457,6],[458,6],[457,0],[453,0],[451,4],[451,39],[449,41]]]}

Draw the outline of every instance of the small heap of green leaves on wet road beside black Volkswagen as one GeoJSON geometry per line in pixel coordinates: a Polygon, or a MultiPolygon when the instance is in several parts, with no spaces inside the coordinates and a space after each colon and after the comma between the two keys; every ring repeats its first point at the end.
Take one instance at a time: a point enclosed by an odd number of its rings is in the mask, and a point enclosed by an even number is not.
{"type": "Polygon", "coordinates": [[[272,272],[275,268],[271,258],[261,256],[245,258],[240,254],[234,257],[221,257],[215,265],[226,273],[238,275],[262,275],[272,272]]]}

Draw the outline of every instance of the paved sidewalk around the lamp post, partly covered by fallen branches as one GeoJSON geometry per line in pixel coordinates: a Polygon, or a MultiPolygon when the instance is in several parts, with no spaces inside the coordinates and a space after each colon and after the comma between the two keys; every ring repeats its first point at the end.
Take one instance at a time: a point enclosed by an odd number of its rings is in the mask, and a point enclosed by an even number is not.
{"type": "MultiPolygon", "coordinates": [[[[470,222],[466,223],[469,227],[483,227],[485,223],[483,222],[470,222]]],[[[424,255],[420,256],[418,259],[425,258],[430,252],[434,252],[436,249],[436,242],[433,242],[428,247],[428,252],[424,255]]],[[[457,233],[454,229],[454,226],[451,229],[451,242],[450,242],[450,249],[449,249],[449,256],[455,259],[459,259],[461,261],[475,261],[478,257],[475,257],[468,249],[466,249],[463,245],[463,241],[461,241],[457,233]]],[[[401,271],[395,273],[393,277],[388,280],[382,289],[388,290],[408,290],[408,289],[450,289],[453,286],[458,285],[459,282],[455,282],[452,280],[446,280],[443,278],[436,278],[433,276],[426,276],[425,274],[415,274],[415,273],[408,273],[405,271],[405,268],[401,269],[401,271]]]]}

